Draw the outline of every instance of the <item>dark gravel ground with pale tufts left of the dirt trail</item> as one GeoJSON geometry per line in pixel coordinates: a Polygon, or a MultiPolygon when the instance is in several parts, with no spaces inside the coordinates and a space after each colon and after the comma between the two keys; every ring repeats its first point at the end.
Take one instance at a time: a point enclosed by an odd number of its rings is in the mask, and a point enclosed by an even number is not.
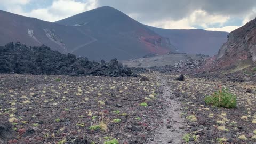
{"type": "Polygon", "coordinates": [[[146,143],[159,126],[154,77],[0,75],[2,143],[146,143]]]}

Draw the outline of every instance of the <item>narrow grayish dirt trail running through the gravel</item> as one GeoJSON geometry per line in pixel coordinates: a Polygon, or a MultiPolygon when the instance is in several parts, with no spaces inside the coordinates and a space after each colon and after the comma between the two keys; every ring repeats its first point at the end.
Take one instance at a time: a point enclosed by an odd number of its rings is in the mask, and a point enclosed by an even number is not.
{"type": "Polygon", "coordinates": [[[159,127],[154,141],[155,143],[182,143],[182,136],[184,134],[184,121],[180,117],[181,104],[172,94],[171,87],[167,84],[164,76],[157,76],[161,79],[161,86],[163,89],[163,98],[165,99],[165,115],[163,115],[163,126],[159,127]],[[171,97],[173,99],[171,99],[171,97]]]}

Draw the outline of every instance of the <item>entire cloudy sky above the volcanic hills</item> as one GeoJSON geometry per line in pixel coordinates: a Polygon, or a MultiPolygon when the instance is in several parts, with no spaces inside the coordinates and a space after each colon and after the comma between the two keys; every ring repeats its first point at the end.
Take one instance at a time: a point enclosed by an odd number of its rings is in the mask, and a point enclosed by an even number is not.
{"type": "Polygon", "coordinates": [[[0,0],[0,10],[57,21],[100,6],[167,29],[232,31],[256,17],[255,0],[0,0]]]}

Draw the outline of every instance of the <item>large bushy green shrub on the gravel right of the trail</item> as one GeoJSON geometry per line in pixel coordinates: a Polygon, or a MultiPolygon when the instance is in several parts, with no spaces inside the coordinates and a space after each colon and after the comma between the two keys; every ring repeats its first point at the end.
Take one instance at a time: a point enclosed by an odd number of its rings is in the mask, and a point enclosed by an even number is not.
{"type": "Polygon", "coordinates": [[[236,107],[236,95],[229,93],[228,89],[220,89],[212,95],[205,97],[204,101],[208,105],[216,107],[234,108],[236,107]]]}

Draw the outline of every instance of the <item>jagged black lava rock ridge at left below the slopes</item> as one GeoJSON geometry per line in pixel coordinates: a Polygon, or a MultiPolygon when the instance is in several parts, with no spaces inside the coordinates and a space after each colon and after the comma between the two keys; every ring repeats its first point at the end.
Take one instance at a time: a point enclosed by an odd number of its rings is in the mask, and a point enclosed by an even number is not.
{"type": "Polygon", "coordinates": [[[109,62],[89,61],[73,54],[61,54],[45,45],[27,47],[8,43],[0,47],[0,73],[71,75],[71,76],[137,76],[123,67],[117,59],[109,62]]]}

